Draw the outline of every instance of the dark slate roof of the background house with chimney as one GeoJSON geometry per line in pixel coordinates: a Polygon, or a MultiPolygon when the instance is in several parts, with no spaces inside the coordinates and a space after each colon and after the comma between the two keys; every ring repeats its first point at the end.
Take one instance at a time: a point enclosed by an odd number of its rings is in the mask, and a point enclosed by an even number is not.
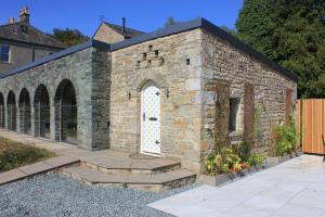
{"type": "Polygon", "coordinates": [[[51,48],[66,48],[66,46],[53,37],[40,31],[31,25],[24,25],[22,23],[0,26],[0,38],[51,48]]]}

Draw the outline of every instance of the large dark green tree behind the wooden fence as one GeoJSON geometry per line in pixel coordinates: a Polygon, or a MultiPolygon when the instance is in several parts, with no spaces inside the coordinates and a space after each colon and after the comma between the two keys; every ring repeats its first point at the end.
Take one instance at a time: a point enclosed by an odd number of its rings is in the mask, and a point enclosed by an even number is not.
{"type": "Polygon", "coordinates": [[[237,36],[294,72],[299,95],[324,98],[324,0],[245,0],[237,36]]]}

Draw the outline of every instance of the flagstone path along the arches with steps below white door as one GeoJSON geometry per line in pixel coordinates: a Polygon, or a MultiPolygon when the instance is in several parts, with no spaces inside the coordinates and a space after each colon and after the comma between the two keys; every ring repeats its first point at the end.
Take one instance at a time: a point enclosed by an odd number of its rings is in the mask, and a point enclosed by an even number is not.
{"type": "MultiPolygon", "coordinates": [[[[61,157],[77,161],[78,164],[67,165],[67,167],[61,168],[60,173],[87,184],[114,184],[147,191],[166,191],[192,184],[196,180],[196,175],[181,168],[181,163],[178,161],[114,150],[87,151],[78,149],[76,145],[37,139],[6,130],[0,130],[0,136],[47,149],[61,155],[61,157]]],[[[53,170],[54,165],[60,166],[62,164],[64,164],[64,158],[62,161],[51,158],[10,171],[10,176],[0,174],[0,184],[1,180],[2,183],[12,182],[53,170]]]]}

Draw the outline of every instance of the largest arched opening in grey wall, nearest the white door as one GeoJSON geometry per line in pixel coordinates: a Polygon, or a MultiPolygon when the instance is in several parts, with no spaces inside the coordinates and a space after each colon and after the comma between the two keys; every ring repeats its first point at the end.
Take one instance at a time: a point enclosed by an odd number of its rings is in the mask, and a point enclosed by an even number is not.
{"type": "Polygon", "coordinates": [[[55,92],[55,126],[58,140],[77,144],[77,100],[70,80],[64,79],[55,92]]]}

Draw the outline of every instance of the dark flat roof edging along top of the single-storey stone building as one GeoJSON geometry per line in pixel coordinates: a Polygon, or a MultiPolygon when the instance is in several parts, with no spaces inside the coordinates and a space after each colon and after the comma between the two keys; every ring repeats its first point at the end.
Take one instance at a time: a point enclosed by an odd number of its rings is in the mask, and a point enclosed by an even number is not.
{"type": "Polygon", "coordinates": [[[116,50],[127,48],[127,47],[130,47],[133,44],[142,43],[144,41],[154,40],[156,38],[161,38],[161,37],[173,35],[173,34],[179,34],[179,33],[187,31],[187,30],[195,29],[195,28],[203,28],[203,29],[208,30],[209,33],[213,34],[214,36],[227,41],[233,47],[242,50],[243,52],[251,55],[252,58],[257,59],[261,63],[264,63],[269,67],[275,69],[280,74],[286,76],[287,78],[289,78],[294,81],[298,81],[298,77],[295,74],[292,74],[290,71],[283,68],[277,63],[271,61],[265,55],[263,55],[260,52],[252,49],[250,46],[242,42],[236,37],[230,35],[225,30],[219,28],[218,26],[213,25],[212,23],[208,22],[205,18],[196,18],[196,20],[193,20],[190,22],[178,23],[176,25],[172,25],[172,26],[169,26],[166,28],[161,28],[161,29],[148,33],[148,34],[142,34],[140,36],[136,36],[136,37],[133,37],[133,38],[130,38],[130,39],[127,39],[127,40],[123,40],[123,41],[120,41],[117,43],[113,43],[113,44],[104,43],[104,42],[92,39],[86,43],[81,43],[81,44],[72,47],[69,49],[63,50],[61,52],[54,53],[52,55],[46,56],[41,60],[38,60],[36,62],[32,62],[32,63],[22,66],[20,68],[10,71],[4,74],[0,74],[0,79],[3,77],[8,77],[11,75],[17,74],[20,72],[26,71],[28,68],[41,65],[41,64],[50,62],[52,60],[60,59],[62,56],[70,54],[70,53],[83,50],[89,47],[103,48],[103,49],[107,49],[110,51],[116,51],[116,50]]]}

